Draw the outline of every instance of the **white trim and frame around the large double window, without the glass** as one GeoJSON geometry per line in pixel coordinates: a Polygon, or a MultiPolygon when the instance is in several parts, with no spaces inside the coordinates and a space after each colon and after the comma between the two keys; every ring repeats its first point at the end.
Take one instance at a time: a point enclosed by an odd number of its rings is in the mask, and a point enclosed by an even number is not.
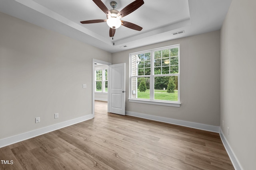
{"type": "MultiPolygon", "coordinates": [[[[160,105],[160,106],[173,106],[173,107],[180,107],[181,103],[180,103],[180,44],[177,45],[170,45],[167,47],[161,47],[161,48],[157,48],[157,49],[151,49],[151,50],[146,50],[146,51],[140,51],[140,52],[136,52],[136,53],[130,53],[129,54],[129,102],[135,102],[135,103],[143,103],[143,104],[154,104],[154,105],[160,105]],[[176,48],[178,47],[178,63],[179,63],[179,67],[178,67],[178,74],[157,74],[154,75],[154,51],[159,51],[159,50],[164,50],[164,49],[170,49],[170,48],[176,48]],[[131,76],[132,75],[132,69],[131,69],[131,64],[132,64],[132,55],[137,55],[140,53],[151,53],[150,56],[150,60],[151,60],[151,66],[150,66],[150,75],[144,75],[144,76],[131,76]],[[153,66],[152,66],[153,63],[153,66]],[[154,77],[155,76],[178,76],[178,101],[166,101],[166,100],[150,100],[152,98],[154,98],[154,93],[150,93],[150,99],[140,99],[140,98],[132,98],[132,77],[151,77],[150,78],[150,89],[154,89],[154,77]]],[[[136,84],[137,86],[137,84],[136,84]]],[[[138,90],[138,87],[136,88],[138,90]]],[[[136,93],[137,95],[137,93],[136,93]]]]}

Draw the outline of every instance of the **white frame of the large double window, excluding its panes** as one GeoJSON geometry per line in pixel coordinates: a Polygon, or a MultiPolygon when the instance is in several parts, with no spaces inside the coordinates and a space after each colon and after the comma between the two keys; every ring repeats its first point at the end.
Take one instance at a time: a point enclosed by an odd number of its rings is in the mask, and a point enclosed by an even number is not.
{"type": "MultiPolygon", "coordinates": [[[[170,57],[169,57],[170,58],[170,57]]],[[[161,55],[162,60],[162,55],[161,55]]],[[[174,106],[174,107],[180,107],[180,44],[177,45],[170,45],[166,47],[156,48],[156,49],[150,49],[146,51],[140,51],[136,53],[130,53],[129,54],[129,102],[136,102],[136,103],[144,103],[144,104],[155,104],[155,105],[161,105],[161,106],[174,106]],[[178,73],[172,73],[172,74],[154,74],[154,52],[156,51],[162,51],[165,49],[173,49],[178,48],[178,73]],[[132,76],[132,56],[139,55],[142,53],[150,53],[150,75],[137,75],[132,76]],[[158,76],[177,76],[178,78],[178,101],[168,101],[168,100],[156,100],[154,99],[154,79],[158,76]],[[140,78],[140,77],[150,77],[150,99],[142,99],[137,98],[138,94],[138,84],[136,83],[136,98],[132,97],[132,78],[140,78]]],[[[170,65],[169,65],[170,66],[170,65]]],[[[161,65],[162,67],[162,65],[161,65]]],[[[137,68],[139,69],[139,68],[137,68]]],[[[170,72],[169,72],[170,73],[170,72]]]]}

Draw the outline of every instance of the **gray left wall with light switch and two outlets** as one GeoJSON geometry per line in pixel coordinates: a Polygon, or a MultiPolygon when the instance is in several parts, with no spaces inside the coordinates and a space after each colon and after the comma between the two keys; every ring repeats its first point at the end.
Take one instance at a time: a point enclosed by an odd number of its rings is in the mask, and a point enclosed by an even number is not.
{"type": "Polygon", "coordinates": [[[111,53],[3,13],[0,23],[0,139],[92,114],[92,58],[111,53]]]}

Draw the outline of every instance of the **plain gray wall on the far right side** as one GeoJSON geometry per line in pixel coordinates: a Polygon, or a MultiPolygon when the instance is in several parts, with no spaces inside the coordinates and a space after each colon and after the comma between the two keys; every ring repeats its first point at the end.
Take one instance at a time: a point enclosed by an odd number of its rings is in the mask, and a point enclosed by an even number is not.
{"type": "Polygon", "coordinates": [[[244,170],[256,167],[255,7],[254,0],[233,0],[220,41],[221,129],[244,170]]]}

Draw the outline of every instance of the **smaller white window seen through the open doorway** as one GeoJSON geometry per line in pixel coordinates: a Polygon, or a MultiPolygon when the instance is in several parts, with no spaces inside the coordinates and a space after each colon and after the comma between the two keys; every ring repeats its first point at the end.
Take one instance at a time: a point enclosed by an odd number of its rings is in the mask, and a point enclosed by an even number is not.
{"type": "Polygon", "coordinates": [[[108,70],[95,70],[95,92],[108,92],[108,70]]]}

